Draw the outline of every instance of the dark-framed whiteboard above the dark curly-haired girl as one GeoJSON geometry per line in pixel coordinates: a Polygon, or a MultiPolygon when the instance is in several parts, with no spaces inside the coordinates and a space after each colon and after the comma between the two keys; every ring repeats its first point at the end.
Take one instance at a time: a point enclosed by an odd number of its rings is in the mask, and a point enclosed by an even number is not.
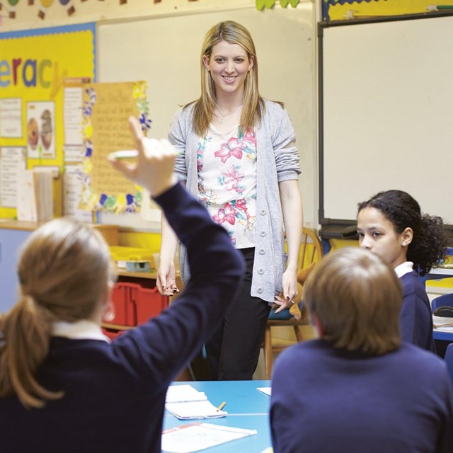
{"type": "Polygon", "coordinates": [[[401,189],[453,224],[453,16],[319,32],[320,223],[401,189]]]}

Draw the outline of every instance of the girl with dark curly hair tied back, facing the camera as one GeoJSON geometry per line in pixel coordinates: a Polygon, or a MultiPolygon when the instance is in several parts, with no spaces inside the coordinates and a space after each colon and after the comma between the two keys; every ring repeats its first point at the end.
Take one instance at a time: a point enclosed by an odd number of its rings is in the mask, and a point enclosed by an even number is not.
{"type": "Polygon", "coordinates": [[[403,285],[403,340],[432,351],[431,307],[419,275],[445,256],[442,224],[440,217],[422,214],[418,202],[402,190],[377,193],[359,204],[357,215],[360,246],[384,258],[403,285]]]}

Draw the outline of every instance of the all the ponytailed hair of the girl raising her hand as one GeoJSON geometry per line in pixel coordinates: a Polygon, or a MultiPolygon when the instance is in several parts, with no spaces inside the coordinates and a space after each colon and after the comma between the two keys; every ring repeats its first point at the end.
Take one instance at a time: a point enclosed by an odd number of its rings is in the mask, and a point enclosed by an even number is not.
{"type": "Polygon", "coordinates": [[[23,245],[18,277],[21,299],[0,318],[0,397],[16,394],[26,408],[41,408],[64,394],[36,380],[52,321],[89,319],[99,308],[113,277],[108,246],[86,224],[52,220],[23,245]]]}

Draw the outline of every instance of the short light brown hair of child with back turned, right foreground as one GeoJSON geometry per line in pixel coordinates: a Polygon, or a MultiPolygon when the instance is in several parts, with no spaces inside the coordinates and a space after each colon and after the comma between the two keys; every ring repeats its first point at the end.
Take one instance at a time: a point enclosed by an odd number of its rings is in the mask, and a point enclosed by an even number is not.
{"type": "Polygon", "coordinates": [[[401,344],[401,284],[379,256],[346,247],[329,253],[310,273],[304,302],[334,348],[382,355],[401,344]]]}

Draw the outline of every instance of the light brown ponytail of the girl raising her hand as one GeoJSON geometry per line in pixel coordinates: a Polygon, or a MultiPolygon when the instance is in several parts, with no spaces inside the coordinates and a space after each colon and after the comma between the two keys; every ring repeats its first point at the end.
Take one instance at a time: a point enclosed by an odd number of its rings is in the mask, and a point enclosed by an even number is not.
{"type": "Polygon", "coordinates": [[[25,408],[42,408],[45,400],[62,398],[38,384],[36,370],[47,357],[50,311],[25,295],[0,318],[0,397],[16,394],[25,408]]]}

